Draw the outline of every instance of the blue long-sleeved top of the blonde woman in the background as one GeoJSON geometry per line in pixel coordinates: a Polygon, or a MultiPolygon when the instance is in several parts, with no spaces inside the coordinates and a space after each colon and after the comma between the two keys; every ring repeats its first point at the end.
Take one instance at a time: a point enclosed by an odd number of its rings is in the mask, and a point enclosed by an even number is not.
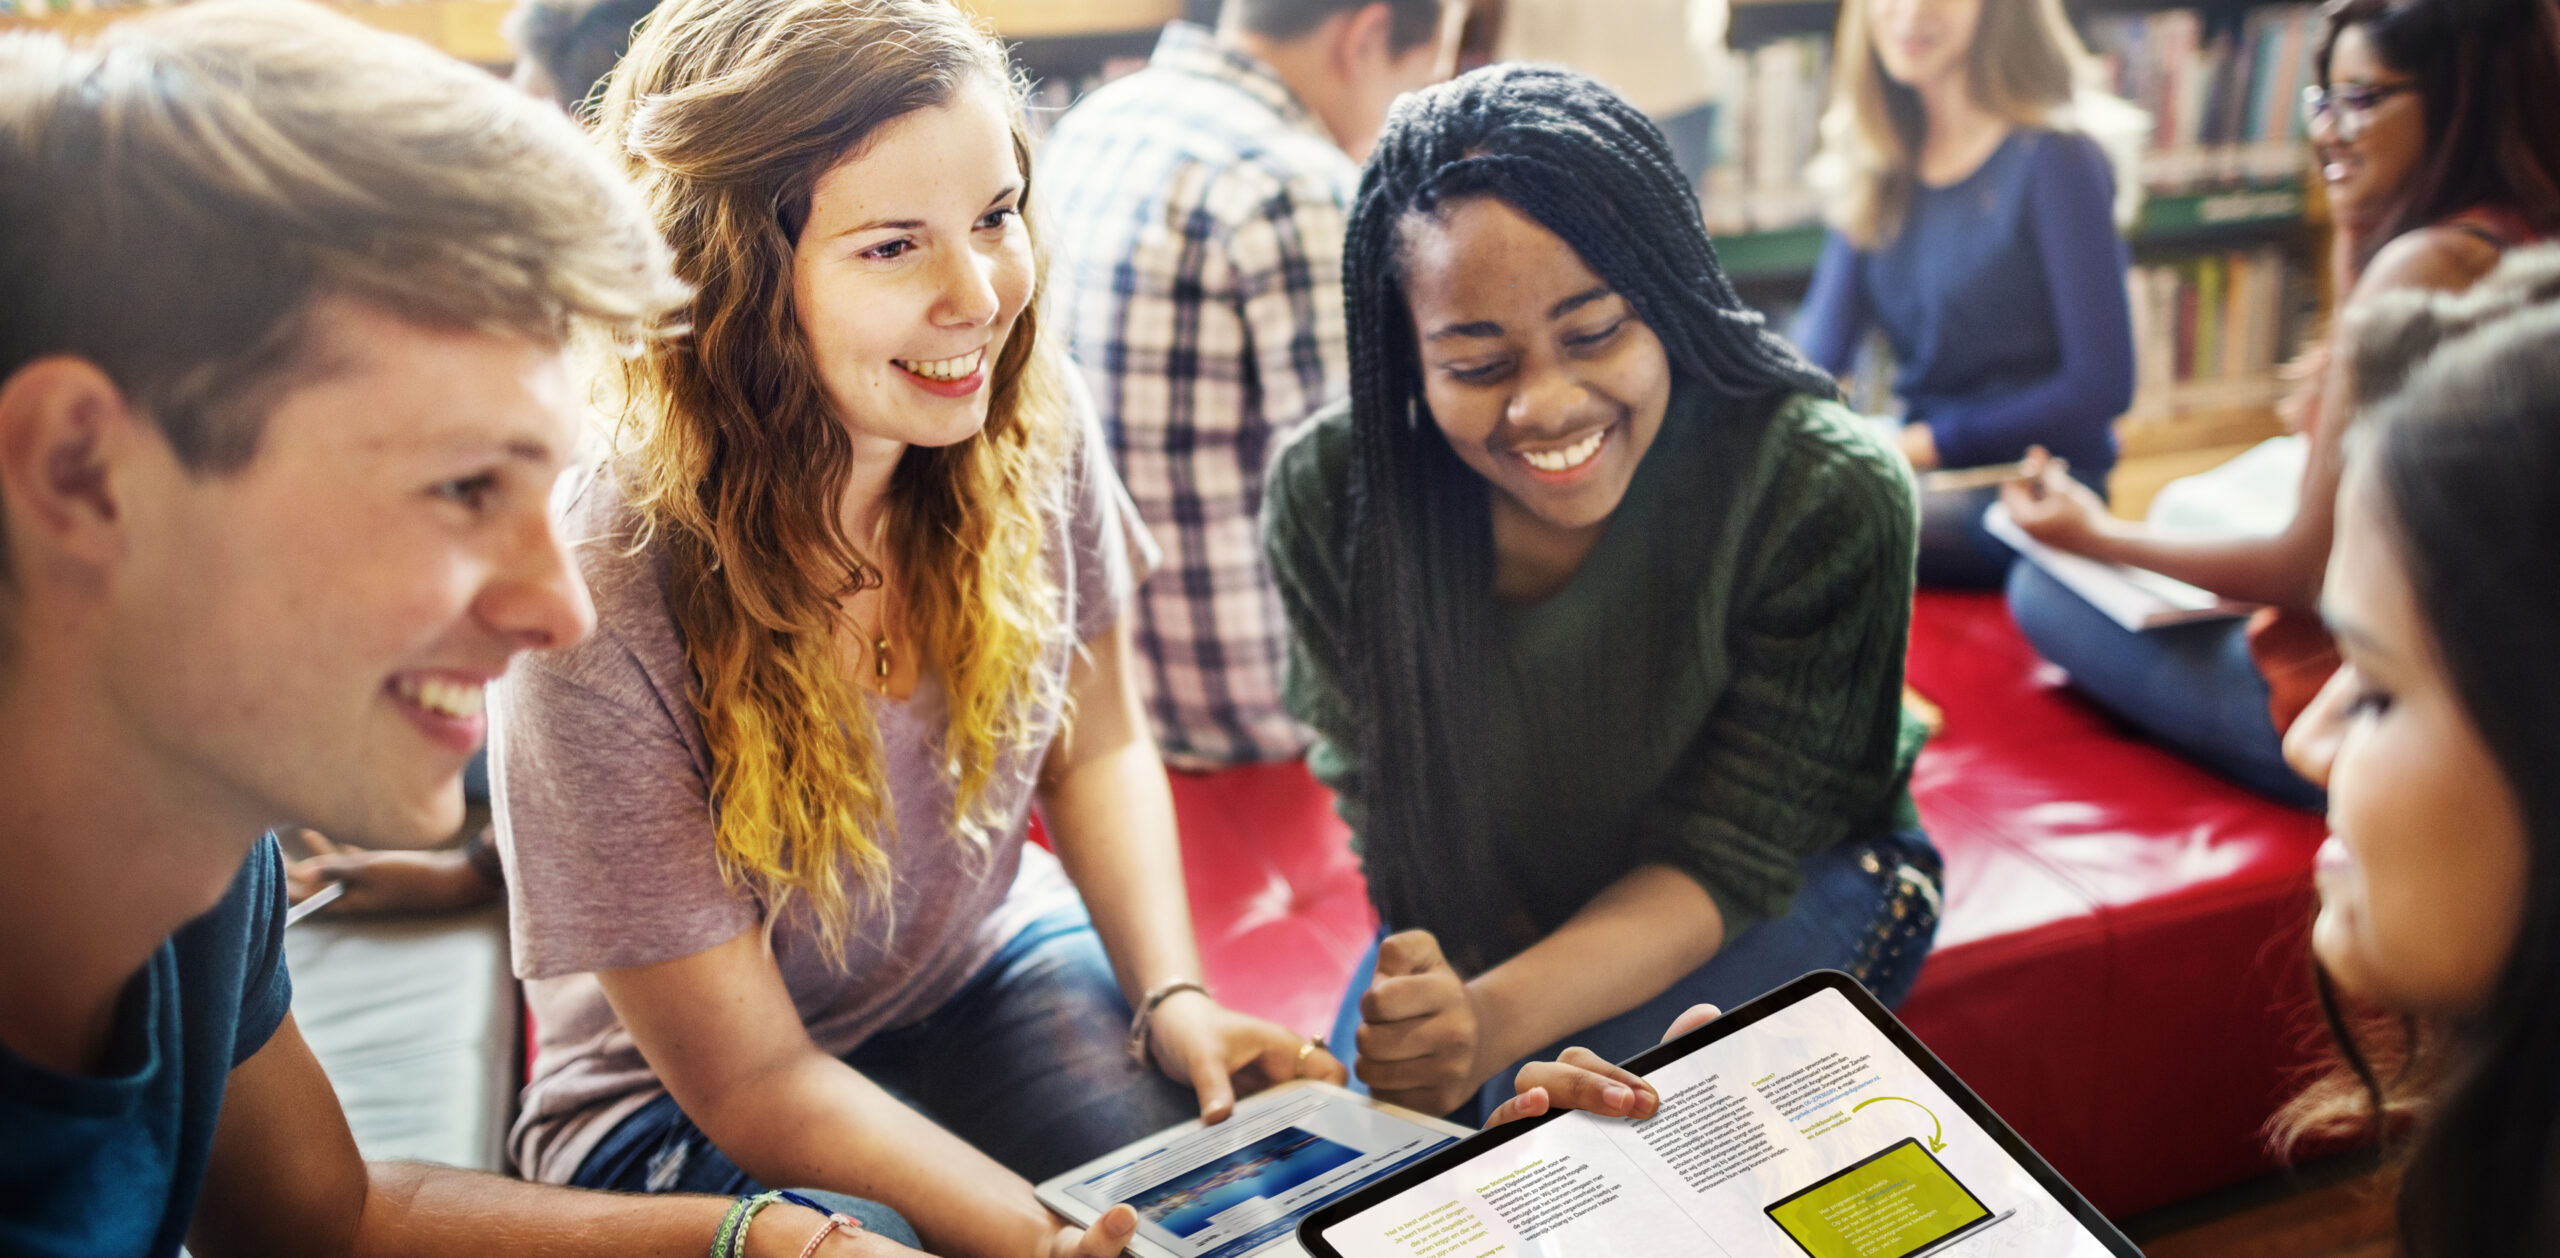
{"type": "Polygon", "coordinates": [[[2102,479],[2109,423],[2132,405],[2125,264],[2107,154],[2017,128],[1974,174],[1917,187],[1884,249],[1830,233],[1795,341],[1843,374],[1866,328],[1884,328],[1905,418],[1930,425],[1943,466],[2045,446],[2102,479]]]}

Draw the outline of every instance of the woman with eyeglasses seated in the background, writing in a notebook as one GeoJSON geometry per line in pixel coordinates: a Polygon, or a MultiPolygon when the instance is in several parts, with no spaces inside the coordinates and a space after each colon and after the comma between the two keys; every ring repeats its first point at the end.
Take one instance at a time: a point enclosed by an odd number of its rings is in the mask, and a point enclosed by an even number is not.
{"type": "MultiPolygon", "coordinates": [[[[2394,290],[2465,290],[2509,249],[2560,233],[2560,18],[2552,0],[2332,0],[2304,120],[2337,233],[2345,313],[2394,290]]],[[[2035,564],[2010,610],[2074,687],[2168,748],[2281,802],[2317,807],[2284,730],[2337,669],[2314,610],[2330,561],[2348,384],[2324,346],[2286,402],[2309,459],[2276,535],[2163,535],[2115,520],[2043,451],[2002,487],[2020,528],[2237,602],[2248,623],[2127,633],[2035,564]]]]}

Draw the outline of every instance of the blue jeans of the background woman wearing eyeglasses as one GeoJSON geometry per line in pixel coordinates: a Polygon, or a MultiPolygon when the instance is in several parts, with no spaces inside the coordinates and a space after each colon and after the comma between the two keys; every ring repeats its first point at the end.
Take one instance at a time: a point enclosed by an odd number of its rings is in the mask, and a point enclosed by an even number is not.
{"type": "Polygon", "coordinates": [[[2035,564],[2010,574],[2010,615],[2038,656],[2071,674],[2071,689],[2168,751],[2278,805],[2327,807],[2327,794],[2284,764],[2243,620],[2135,633],[2035,564]]]}

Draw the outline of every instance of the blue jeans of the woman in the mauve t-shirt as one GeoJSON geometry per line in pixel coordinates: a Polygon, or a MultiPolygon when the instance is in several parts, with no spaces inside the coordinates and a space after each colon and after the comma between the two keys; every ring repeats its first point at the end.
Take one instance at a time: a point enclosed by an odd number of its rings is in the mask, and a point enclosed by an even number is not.
{"type": "MultiPolygon", "coordinates": [[[[863,1040],[845,1063],[1037,1184],[1201,1117],[1193,1091],[1132,1061],[1126,1043],[1129,1002],[1073,907],[1024,927],[940,1009],[863,1040]]],[[[571,1184],[763,1191],[673,1097],[614,1125],[571,1184]]]]}

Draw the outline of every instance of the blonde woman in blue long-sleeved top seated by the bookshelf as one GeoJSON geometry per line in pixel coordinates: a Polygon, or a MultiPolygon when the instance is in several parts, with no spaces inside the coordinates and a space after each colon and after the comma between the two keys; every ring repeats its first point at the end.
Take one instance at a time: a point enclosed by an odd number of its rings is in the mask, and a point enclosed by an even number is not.
{"type": "MultiPolygon", "coordinates": [[[[2081,87],[2092,59],[2061,0],[1848,0],[1838,49],[1812,164],[1833,231],[1795,341],[1846,374],[1884,331],[1920,471],[2043,446],[2104,492],[2132,402],[2130,182],[2092,131],[2140,115],[2081,87]]],[[[1999,584],[1994,494],[1923,497],[1923,584],[1999,584]]]]}

